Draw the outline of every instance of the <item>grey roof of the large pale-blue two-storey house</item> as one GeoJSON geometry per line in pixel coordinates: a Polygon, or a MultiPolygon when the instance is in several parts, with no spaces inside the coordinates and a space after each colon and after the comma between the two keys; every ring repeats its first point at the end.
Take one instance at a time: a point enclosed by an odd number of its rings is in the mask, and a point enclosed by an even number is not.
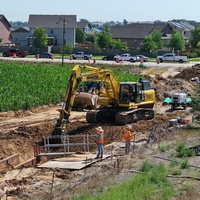
{"type": "Polygon", "coordinates": [[[76,15],[29,15],[29,27],[76,28],[76,15]]]}

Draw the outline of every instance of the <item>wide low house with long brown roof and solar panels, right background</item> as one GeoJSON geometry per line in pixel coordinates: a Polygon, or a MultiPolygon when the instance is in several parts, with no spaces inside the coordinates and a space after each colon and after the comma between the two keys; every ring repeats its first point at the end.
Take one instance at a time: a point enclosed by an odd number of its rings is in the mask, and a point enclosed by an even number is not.
{"type": "Polygon", "coordinates": [[[130,49],[137,49],[143,43],[146,36],[157,30],[162,34],[163,50],[168,50],[167,44],[169,43],[173,29],[181,33],[187,42],[191,37],[191,30],[194,28],[194,26],[186,22],[132,23],[126,26],[112,26],[111,35],[113,39],[121,39],[122,42],[127,42],[130,49]]]}

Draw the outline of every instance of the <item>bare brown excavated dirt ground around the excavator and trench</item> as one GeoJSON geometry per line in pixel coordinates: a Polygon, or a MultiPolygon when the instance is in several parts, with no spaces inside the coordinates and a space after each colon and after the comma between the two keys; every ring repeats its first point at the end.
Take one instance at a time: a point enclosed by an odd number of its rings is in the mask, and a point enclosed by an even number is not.
{"type": "MultiPolygon", "coordinates": [[[[122,137],[125,125],[116,124],[109,118],[89,123],[87,109],[71,111],[65,134],[54,136],[58,142],[53,144],[51,133],[59,118],[61,103],[0,113],[0,199],[37,199],[38,195],[38,199],[71,199],[83,188],[93,190],[97,185],[106,185],[106,179],[120,183],[137,172],[144,160],[153,156],[157,156],[158,162],[169,159],[169,154],[157,151],[158,146],[178,141],[180,134],[188,147],[199,144],[198,133],[187,135],[187,127],[191,126],[193,119],[191,108],[171,109],[171,105],[163,105],[163,101],[174,93],[186,93],[192,98],[198,84],[191,79],[200,77],[200,65],[130,67],[128,73],[146,76],[156,98],[152,119],[129,122],[136,133],[130,155],[124,155],[122,137]],[[97,153],[95,129],[98,126],[104,130],[102,159],[94,159],[97,153]],[[100,174],[101,178],[97,180],[100,174]],[[57,188],[61,186],[63,190],[58,192],[57,188]]],[[[166,160],[163,162],[167,163],[166,160]]],[[[192,199],[197,199],[200,198],[199,157],[194,156],[189,162],[194,168],[190,177],[198,179],[191,180],[196,194],[192,199]]],[[[190,194],[184,196],[186,198],[179,199],[188,199],[190,194]]]]}

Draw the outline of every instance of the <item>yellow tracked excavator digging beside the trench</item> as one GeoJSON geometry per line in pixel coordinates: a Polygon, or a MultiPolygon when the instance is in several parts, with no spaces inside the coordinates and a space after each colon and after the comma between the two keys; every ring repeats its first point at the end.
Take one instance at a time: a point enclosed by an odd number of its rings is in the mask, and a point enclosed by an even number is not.
{"type": "Polygon", "coordinates": [[[64,95],[64,104],[59,109],[60,117],[53,135],[60,135],[65,130],[79,84],[91,82],[101,84],[101,87],[92,96],[94,105],[98,106],[87,111],[88,123],[96,123],[108,117],[114,118],[117,124],[124,125],[137,120],[154,118],[155,91],[151,89],[148,80],[119,82],[109,69],[75,65],[64,95]],[[82,68],[89,71],[81,73],[82,68]]]}

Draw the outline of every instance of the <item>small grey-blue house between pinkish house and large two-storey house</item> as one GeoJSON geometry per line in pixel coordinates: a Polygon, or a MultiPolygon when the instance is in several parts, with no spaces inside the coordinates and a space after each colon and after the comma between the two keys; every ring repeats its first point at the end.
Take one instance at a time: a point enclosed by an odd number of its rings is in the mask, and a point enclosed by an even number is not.
{"type": "Polygon", "coordinates": [[[29,38],[29,27],[19,27],[19,26],[12,26],[11,28],[12,33],[12,43],[17,46],[27,46],[28,45],[28,38],[29,38]]]}

